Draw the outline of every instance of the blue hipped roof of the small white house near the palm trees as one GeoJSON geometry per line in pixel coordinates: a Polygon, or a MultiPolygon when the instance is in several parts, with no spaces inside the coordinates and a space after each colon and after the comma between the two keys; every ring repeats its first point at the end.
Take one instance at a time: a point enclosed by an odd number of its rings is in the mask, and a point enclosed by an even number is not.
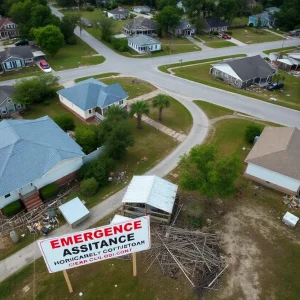
{"type": "Polygon", "coordinates": [[[106,85],[94,78],[81,81],[57,93],[84,111],[95,107],[104,108],[128,97],[118,83],[106,85]]]}

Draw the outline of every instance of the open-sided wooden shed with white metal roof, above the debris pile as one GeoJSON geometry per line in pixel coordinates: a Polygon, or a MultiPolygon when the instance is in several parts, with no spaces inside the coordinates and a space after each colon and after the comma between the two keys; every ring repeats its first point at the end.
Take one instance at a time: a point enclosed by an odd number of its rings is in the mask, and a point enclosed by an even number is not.
{"type": "Polygon", "coordinates": [[[170,224],[176,207],[178,186],[157,176],[133,176],[122,199],[122,215],[170,224]]]}

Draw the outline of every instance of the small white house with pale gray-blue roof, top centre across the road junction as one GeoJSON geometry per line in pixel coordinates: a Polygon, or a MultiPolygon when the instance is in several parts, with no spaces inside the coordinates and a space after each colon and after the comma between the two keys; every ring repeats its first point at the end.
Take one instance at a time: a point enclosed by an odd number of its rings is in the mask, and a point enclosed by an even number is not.
{"type": "Polygon", "coordinates": [[[128,46],[140,54],[161,50],[160,41],[144,34],[128,38],[128,46]]]}

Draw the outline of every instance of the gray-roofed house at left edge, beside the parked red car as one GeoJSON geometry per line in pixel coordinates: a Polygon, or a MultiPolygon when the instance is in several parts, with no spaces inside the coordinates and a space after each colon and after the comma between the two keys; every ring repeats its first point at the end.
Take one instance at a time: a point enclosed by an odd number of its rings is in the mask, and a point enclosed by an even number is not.
{"type": "Polygon", "coordinates": [[[0,71],[7,72],[33,65],[34,55],[30,46],[11,47],[0,52],[0,71]]]}

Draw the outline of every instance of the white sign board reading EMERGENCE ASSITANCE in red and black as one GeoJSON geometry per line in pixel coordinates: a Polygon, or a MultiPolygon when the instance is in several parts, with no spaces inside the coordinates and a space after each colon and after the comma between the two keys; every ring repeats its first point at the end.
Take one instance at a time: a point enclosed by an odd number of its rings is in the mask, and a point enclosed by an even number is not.
{"type": "Polygon", "coordinates": [[[37,242],[54,273],[149,249],[150,219],[144,216],[37,242]]]}

